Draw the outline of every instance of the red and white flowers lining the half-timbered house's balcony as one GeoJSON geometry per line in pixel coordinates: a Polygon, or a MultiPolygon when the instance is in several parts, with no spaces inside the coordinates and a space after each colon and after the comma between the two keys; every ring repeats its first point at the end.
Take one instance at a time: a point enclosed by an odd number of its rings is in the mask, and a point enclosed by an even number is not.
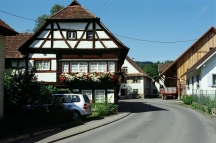
{"type": "Polygon", "coordinates": [[[117,82],[118,76],[111,72],[76,72],[60,74],[61,82],[117,82]]]}

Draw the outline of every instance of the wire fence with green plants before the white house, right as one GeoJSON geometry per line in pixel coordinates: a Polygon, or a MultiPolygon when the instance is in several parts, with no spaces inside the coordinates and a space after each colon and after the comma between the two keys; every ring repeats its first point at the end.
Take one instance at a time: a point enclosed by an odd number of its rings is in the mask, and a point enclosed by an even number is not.
{"type": "Polygon", "coordinates": [[[193,89],[192,93],[194,102],[216,108],[216,90],[193,89]]]}

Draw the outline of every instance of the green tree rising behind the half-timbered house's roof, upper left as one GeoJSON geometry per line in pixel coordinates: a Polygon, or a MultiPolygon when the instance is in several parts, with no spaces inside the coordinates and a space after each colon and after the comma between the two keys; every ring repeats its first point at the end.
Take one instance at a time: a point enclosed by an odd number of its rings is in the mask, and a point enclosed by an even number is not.
{"type": "Polygon", "coordinates": [[[37,18],[37,20],[36,20],[33,32],[36,32],[46,22],[46,19],[48,19],[51,15],[55,14],[56,12],[60,11],[63,8],[64,8],[64,6],[59,5],[59,4],[55,4],[52,7],[52,9],[50,10],[50,14],[49,15],[43,14],[43,15],[39,16],[37,18]]]}

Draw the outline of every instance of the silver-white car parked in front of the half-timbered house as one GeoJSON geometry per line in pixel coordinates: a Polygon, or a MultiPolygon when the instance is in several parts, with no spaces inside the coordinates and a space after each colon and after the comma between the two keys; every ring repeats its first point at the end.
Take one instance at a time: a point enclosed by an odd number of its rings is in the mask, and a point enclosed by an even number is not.
{"type": "Polygon", "coordinates": [[[61,98],[63,110],[73,110],[73,118],[86,117],[92,114],[90,101],[83,94],[52,94],[54,98],[61,98]]]}

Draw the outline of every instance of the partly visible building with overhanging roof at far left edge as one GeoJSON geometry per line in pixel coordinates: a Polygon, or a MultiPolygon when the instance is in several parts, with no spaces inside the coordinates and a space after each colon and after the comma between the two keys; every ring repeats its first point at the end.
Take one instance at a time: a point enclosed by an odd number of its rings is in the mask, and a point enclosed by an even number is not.
{"type": "Polygon", "coordinates": [[[6,36],[16,35],[17,32],[0,19],[0,119],[4,111],[4,66],[5,66],[5,39],[6,36]]]}

